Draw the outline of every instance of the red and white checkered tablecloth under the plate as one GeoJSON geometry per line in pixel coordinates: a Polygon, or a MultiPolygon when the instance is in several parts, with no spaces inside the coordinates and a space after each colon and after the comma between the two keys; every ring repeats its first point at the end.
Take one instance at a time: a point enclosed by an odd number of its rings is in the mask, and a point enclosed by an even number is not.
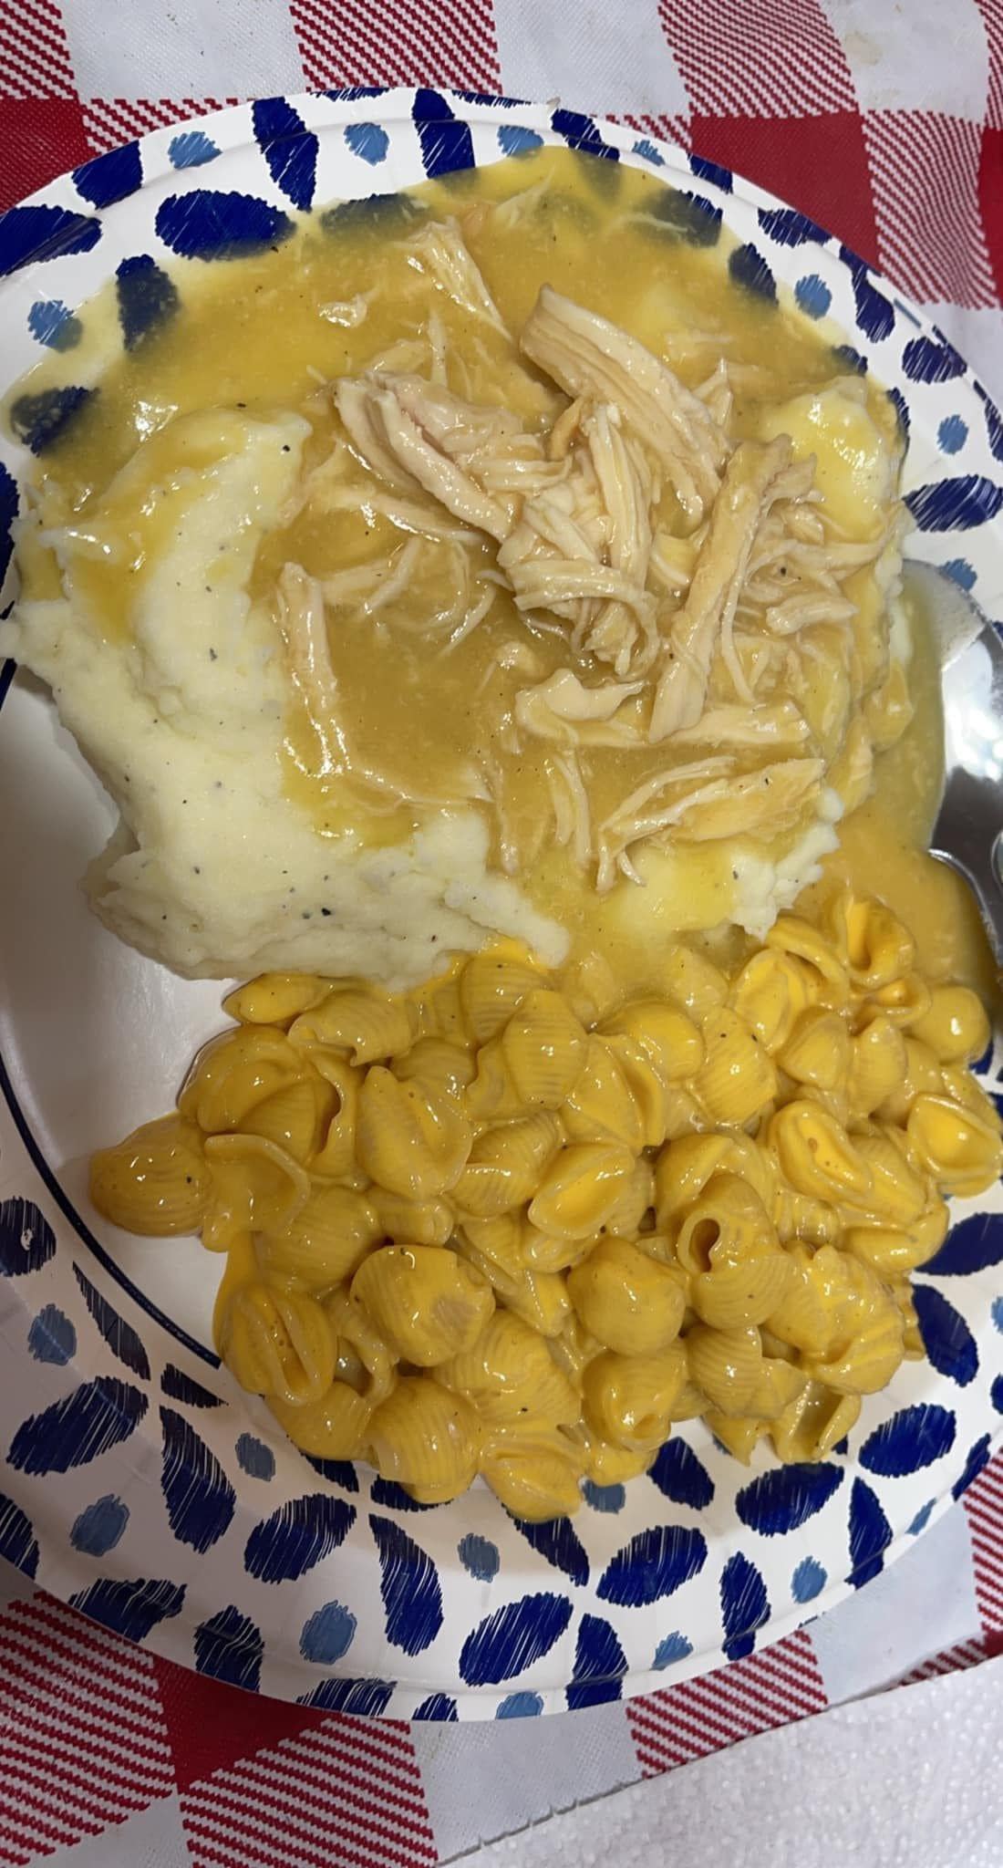
{"type": "MultiPolygon", "coordinates": [[[[226,101],[415,80],[682,138],[833,228],[1003,387],[1003,0],[0,0],[0,207],[226,101]]],[[[241,1694],[0,1565],[0,1864],[437,1864],[1001,1651],[1003,1455],[801,1633],[665,1692],[495,1726],[241,1694]]]]}

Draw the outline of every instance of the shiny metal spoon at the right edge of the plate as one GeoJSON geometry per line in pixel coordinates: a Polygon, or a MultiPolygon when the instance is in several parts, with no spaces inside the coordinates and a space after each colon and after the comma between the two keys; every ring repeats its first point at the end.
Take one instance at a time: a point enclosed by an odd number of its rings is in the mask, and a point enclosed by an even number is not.
{"type": "Polygon", "coordinates": [[[1003,966],[1003,643],[977,603],[932,564],[906,564],[941,663],[943,796],[930,856],[971,887],[1003,966]]]}

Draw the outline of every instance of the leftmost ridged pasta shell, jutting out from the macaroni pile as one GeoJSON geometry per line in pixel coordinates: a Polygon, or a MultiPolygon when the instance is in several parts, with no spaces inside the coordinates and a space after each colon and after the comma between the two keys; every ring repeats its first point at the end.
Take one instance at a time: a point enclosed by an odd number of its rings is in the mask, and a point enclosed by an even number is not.
{"type": "Polygon", "coordinates": [[[127,1233],[166,1238],[198,1231],[211,1186],[202,1132],[179,1115],[144,1123],[90,1162],[93,1205],[127,1233]]]}

